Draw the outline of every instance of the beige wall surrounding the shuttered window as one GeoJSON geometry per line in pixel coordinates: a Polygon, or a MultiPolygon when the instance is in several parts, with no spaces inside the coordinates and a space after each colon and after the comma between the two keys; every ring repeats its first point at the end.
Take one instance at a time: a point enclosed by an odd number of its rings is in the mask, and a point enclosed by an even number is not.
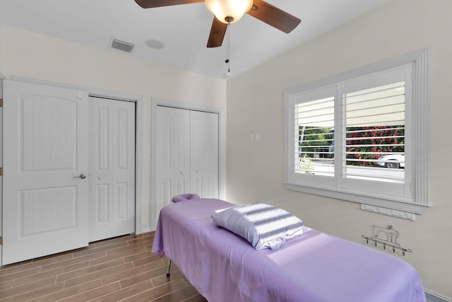
{"type": "MultiPolygon", "coordinates": [[[[363,243],[370,227],[393,225],[398,256],[417,269],[424,288],[452,298],[452,1],[391,0],[227,82],[227,199],[238,204],[270,202],[296,214],[307,226],[363,243]],[[283,91],[317,79],[429,48],[429,202],[416,221],[359,209],[359,204],[283,187],[283,91]],[[260,134],[250,141],[250,134],[260,134]]],[[[303,23],[301,23],[303,27],[303,23]]],[[[371,261],[371,259],[369,259],[371,261]]],[[[391,270],[391,267],[387,268],[391,270]]]]}

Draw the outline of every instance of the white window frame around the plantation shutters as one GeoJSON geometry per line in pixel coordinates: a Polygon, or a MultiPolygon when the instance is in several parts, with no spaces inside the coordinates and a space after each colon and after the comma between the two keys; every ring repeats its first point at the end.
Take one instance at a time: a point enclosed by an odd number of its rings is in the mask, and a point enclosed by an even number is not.
{"type": "MultiPolygon", "coordinates": [[[[382,214],[390,214],[401,218],[415,220],[413,214],[423,214],[428,207],[431,207],[428,199],[428,158],[429,158],[429,53],[428,50],[421,50],[412,54],[406,54],[395,59],[365,66],[354,71],[345,72],[327,79],[321,79],[312,83],[307,83],[284,91],[285,98],[285,156],[284,156],[284,184],[287,190],[307,192],[336,199],[343,199],[350,202],[362,204],[361,209],[376,211],[382,214]],[[336,95],[340,95],[338,83],[345,83],[352,79],[358,79],[370,74],[390,71],[391,69],[411,66],[412,74],[412,98],[410,111],[406,112],[405,120],[410,124],[408,132],[411,133],[411,167],[405,170],[405,180],[410,181],[410,197],[396,197],[383,195],[374,192],[363,192],[352,189],[337,187],[334,182],[304,182],[295,180],[293,176],[293,129],[294,129],[294,102],[297,95],[309,91],[321,91],[326,88],[335,90],[336,95]],[[389,209],[389,211],[386,211],[389,209]],[[395,211],[393,211],[395,210],[395,211]],[[400,211],[400,212],[399,212],[400,211]]],[[[339,103],[339,102],[338,102],[339,103]]],[[[337,113],[335,113],[337,114],[337,113]]],[[[336,123],[335,119],[335,123],[336,123]]],[[[336,146],[335,146],[336,148],[336,146]]],[[[337,160],[339,158],[336,158],[337,160]]],[[[320,175],[309,175],[315,180],[320,180],[320,175]]],[[[335,176],[334,178],[337,178],[335,176]]]]}

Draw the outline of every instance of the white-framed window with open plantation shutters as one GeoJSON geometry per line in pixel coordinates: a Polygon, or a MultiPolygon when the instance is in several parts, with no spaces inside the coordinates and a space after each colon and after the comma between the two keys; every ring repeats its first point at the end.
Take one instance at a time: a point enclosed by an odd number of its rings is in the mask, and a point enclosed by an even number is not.
{"type": "Polygon", "coordinates": [[[285,91],[286,188],[422,214],[426,64],[424,51],[285,91]]]}

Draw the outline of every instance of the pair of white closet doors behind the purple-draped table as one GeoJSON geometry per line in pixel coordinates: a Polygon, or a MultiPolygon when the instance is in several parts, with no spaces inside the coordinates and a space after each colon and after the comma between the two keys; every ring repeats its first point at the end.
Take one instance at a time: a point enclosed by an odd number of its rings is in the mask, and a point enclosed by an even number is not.
{"type": "Polygon", "coordinates": [[[151,229],[175,195],[219,196],[218,112],[167,105],[154,105],[153,110],[151,229]]]}

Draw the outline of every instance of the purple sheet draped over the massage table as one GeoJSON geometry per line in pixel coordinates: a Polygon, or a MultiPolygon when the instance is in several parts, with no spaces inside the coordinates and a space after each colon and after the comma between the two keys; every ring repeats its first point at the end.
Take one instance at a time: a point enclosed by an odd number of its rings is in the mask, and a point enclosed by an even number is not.
{"type": "Polygon", "coordinates": [[[208,301],[426,301],[407,262],[306,226],[279,250],[255,250],[213,223],[215,210],[232,206],[198,199],[160,211],[153,252],[172,259],[208,301]]]}

